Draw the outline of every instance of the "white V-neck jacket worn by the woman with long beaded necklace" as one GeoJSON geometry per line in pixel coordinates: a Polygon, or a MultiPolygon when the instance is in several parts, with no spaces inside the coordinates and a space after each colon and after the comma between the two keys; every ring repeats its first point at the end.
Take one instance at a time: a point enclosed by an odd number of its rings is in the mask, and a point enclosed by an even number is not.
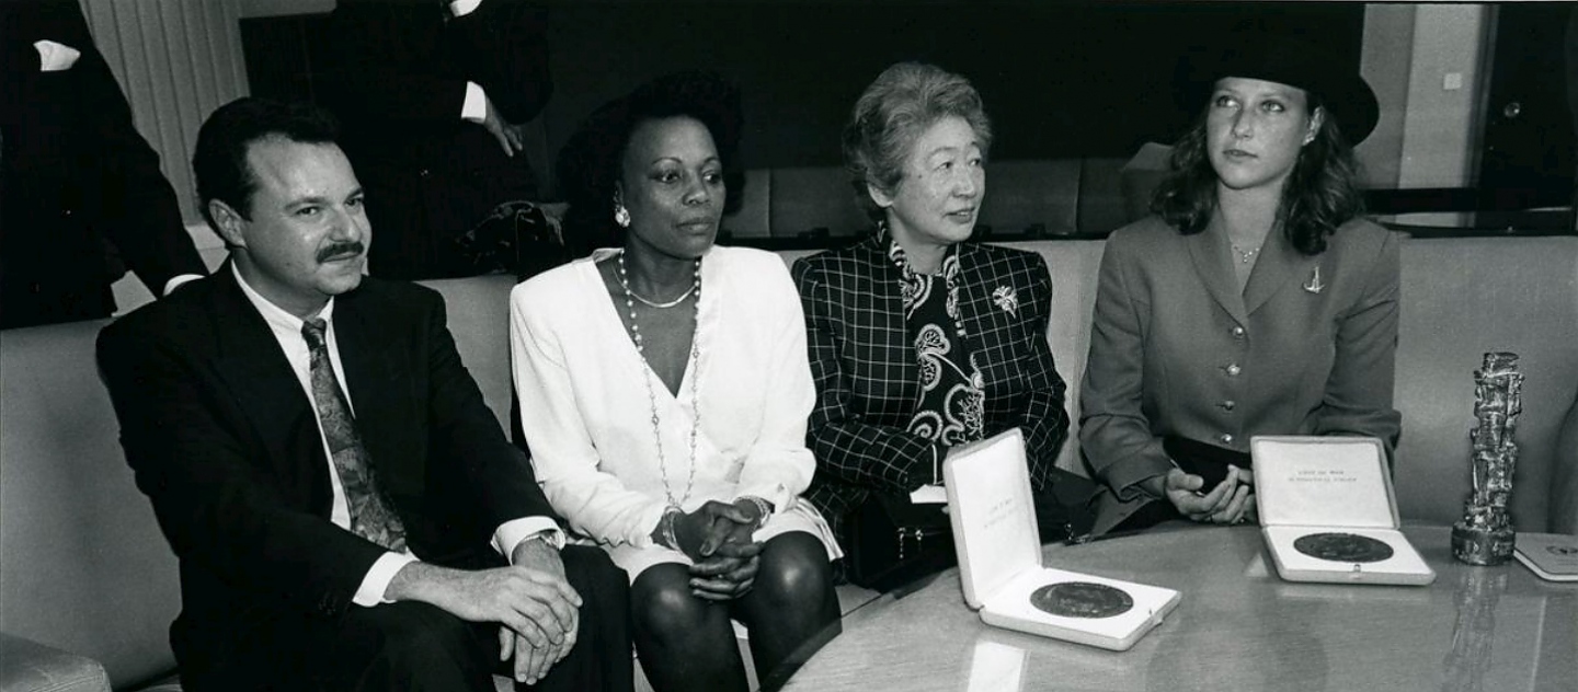
{"type": "MultiPolygon", "coordinates": [[[[702,260],[694,370],[679,396],[636,352],[590,257],[538,274],[510,295],[521,422],[549,503],[604,545],[650,547],[667,492],[693,511],[745,495],[791,509],[811,482],[806,416],[816,396],[800,295],[778,255],[713,247],[702,260]],[[656,397],[664,474],[653,435],[656,397]],[[691,386],[696,385],[693,408],[691,386]],[[696,435],[696,478],[682,498],[696,435]]],[[[672,318],[691,318],[674,307],[672,318]]]]}

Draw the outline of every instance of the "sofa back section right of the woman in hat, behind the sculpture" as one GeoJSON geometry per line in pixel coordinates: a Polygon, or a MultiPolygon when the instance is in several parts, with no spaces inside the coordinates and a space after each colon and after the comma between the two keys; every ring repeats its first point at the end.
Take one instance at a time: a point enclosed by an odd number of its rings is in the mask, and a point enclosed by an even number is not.
{"type": "MultiPolygon", "coordinates": [[[[1513,520],[1523,531],[1578,533],[1573,441],[1559,435],[1578,404],[1578,236],[1412,238],[1403,244],[1393,481],[1403,517],[1447,523],[1469,493],[1474,370],[1512,352],[1523,374],[1513,440],[1513,520]]],[[[1578,437],[1570,437],[1578,440],[1578,437]]]]}

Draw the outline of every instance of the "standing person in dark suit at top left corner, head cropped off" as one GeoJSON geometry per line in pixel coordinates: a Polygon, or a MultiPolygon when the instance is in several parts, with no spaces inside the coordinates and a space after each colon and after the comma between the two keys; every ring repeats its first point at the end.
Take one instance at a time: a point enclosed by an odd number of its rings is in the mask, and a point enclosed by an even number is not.
{"type": "Polygon", "coordinates": [[[0,3],[0,328],[109,317],[207,274],[76,0],[0,3]]]}

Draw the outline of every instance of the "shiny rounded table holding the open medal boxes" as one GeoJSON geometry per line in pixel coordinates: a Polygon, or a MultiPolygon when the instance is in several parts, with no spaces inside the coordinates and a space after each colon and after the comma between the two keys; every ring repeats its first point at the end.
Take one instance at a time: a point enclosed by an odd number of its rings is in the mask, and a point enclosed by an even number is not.
{"type": "Polygon", "coordinates": [[[1048,545],[1045,564],[1179,590],[1130,651],[989,627],[958,571],[862,608],[786,690],[1578,690],[1578,583],[1469,567],[1406,528],[1430,586],[1283,582],[1256,526],[1048,545]]]}

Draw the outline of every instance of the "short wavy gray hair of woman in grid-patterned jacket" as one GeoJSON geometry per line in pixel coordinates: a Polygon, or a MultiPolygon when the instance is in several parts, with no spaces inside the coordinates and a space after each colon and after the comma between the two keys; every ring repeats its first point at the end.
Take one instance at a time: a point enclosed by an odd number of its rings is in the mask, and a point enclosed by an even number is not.
{"type": "Polygon", "coordinates": [[[882,210],[868,184],[893,192],[904,178],[904,159],[933,123],[958,117],[969,123],[982,153],[991,148],[991,120],[969,79],[926,63],[898,63],[882,71],[855,101],[844,125],[844,166],[855,202],[874,221],[882,210]]]}

